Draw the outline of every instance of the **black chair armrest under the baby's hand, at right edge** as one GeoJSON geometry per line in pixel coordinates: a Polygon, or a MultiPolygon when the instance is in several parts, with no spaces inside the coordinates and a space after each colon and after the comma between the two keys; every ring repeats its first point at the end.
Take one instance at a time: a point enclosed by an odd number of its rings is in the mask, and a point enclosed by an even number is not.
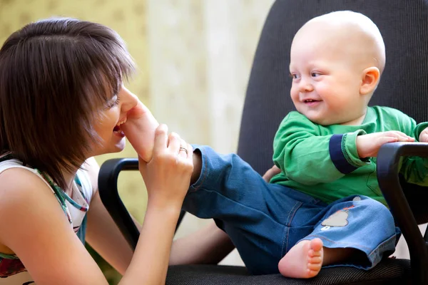
{"type": "Polygon", "coordinates": [[[428,284],[428,249],[416,219],[399,183],[399,160],[402,156],[428,157],[428,144],[392,142],[382,145],[377,154],[377,180],[389,209],[409,247],[414,284],[428,284]]]}

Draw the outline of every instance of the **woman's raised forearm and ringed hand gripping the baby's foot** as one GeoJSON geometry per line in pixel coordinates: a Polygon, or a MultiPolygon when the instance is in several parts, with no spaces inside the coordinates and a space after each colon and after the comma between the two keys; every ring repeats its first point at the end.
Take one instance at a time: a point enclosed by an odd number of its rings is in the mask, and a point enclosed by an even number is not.
{"type": "Polygon", "coordinates": [[[193,172],[190,145],[183,144],[174,133],[167,136],[167,128],[156,129],[153,157],[150,162],[139,158],[139,169],[148,192],[146,216],[131,264],[123,276],[124,281],[135,284],[165,284],[170,249],[185,193],[193,172]],[[131,272],[140,272],[134,279],[131,272]],[[144,273],[144,274],[142,274],[144,273]]]}

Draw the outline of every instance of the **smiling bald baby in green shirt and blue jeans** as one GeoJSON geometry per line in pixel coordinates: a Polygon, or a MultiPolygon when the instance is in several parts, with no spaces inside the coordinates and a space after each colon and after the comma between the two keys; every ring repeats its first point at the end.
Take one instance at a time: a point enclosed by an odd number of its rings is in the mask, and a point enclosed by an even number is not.
{"type": "MultiPolygon", "coordinates": [[[[399,234],[377,183],[379,147],[428,142],[428,123],[368,107],[384,64],[382,36],[367,16],[337,11],[308,21],[290,51],[297,112],[275,135],[280,174],[266,183],[237,155],[195,145],[183,209],[214,218],[253,274],[311,278],[322,266],[371,269],[394,252],[399,234]]],[[[151,120],[147,112],[125,124],[125,133],[150,134],[144,125],[151,120]]],[[[129,140],[143,155],[153,145],[150,136],[129,140]]],[[[408,157],[401,172],[409,182],[428,185],[426,165],[408,157]]]]}

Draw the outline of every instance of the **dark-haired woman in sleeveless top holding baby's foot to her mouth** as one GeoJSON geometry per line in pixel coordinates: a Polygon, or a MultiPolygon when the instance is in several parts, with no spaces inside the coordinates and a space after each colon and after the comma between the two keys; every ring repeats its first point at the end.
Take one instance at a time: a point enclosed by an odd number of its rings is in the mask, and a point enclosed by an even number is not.
{"type": "Polygon", "coordinates": [[[233,249],[215,224],[172,242],[193,152],[123,86],[133,67],[116,32],[76,19],[29,24],[1,47],[1,285],[107,284],[85,240],[120,284],[164,284],[168,261],[217,263],[233,249]],[[141,115],[148,125],[133,130],[141,115]],[[145,135],[148,205],[134,253],[101,203],[92,158],[123,150],[123,130],[145,135]]]}

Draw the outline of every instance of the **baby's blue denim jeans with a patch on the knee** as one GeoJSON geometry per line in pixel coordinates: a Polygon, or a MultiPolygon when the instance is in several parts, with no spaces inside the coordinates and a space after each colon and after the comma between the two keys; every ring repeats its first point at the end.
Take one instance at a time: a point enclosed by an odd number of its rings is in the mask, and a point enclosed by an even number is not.
{"type": "Polygon", "coordinates": [[[360,250],[364,258],[336,264],[341,266],[370,269],[385,252],[394,252],[399,229],[382,203],[354,195],[326,204],[265,182],[238,155],[194,147],[201,152],[202,171],[190,186],[183,209],[203,219],[215,219],[250,273],[278,273],[277,264],[291,247],[315,237],[325,247],[360,250]]]}

